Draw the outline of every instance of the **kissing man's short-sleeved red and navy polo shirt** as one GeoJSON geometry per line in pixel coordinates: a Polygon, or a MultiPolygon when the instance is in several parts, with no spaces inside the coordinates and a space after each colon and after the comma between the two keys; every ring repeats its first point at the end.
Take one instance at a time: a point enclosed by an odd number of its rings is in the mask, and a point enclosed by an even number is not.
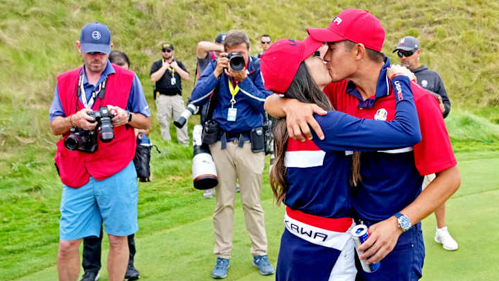
{"type": "MultiPolygon", "coordinates": [[[[348,80],[331,83],[324,92],[333,107],[355,117],[391,121],[395,119],[394,87],[386,75],[388,58],[380,71],[376,94],[363,100],[356,85],[348,80]]],[[[421,193],[423,175],[454,167],[450,140],[437,100],[417,83],[410,83],[416,104],[422,140],[396,150],[362,153],[362,181],[352,189],[354,216],[383,221],[408,206],[421,193]]],[[[376,142],[376,139],[371,139],[376,142]]]]}

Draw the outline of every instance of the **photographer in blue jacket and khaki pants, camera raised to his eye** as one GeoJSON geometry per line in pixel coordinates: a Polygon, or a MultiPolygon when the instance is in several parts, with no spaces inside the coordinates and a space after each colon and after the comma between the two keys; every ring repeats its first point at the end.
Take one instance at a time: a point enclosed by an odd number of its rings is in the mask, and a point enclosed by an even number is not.
{"type": "Polygon", "coordinates": [[[265,161],[263,103],[271,92],[263,87],[259,60],[249,56],[249,39],[245,33],[229,31],[224,49],[225,53],[204,69],[191,95],[194,105],[209,102],[203,143],[209,144],[219,182],[213,214],[217,259],[211,276],[227,277],[237,179],[246,229],[252,241],[253,265],[261,274],[270,275],[274,268],[267,256],[260,194],[265,161]]]}

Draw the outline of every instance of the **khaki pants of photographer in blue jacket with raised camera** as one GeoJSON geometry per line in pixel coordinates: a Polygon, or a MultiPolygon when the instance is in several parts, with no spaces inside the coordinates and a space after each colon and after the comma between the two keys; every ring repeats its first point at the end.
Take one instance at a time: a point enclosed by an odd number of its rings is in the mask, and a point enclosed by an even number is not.
{"type": "Polygon", "coordinates": [[[213,214],[213,253],[224,259],[231,257],[238,178],[246,230],[252,241],[251,253],[253,256],[267,255],[265,218],[260,204],[265,153],[252,153],[250,142],[245,142],[243,148],[240,148],[236,141],[227,142],[227,148],[223,150],[220,149],[220,141],[216,142],[210,145],[210,151],[218,173],[218,185],[215,187],[217,203],[213,214]]]}

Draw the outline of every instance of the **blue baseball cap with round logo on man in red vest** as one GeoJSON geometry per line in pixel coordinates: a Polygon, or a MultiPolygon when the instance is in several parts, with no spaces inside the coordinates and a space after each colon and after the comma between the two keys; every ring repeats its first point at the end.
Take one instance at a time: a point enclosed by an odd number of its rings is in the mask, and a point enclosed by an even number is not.
{"type": "Polygon", "coordinates": [[[81,51],[83,53],[110,53],[111,31],[100,22],[92,22],[83,26],[80,34],[81,51]]]}

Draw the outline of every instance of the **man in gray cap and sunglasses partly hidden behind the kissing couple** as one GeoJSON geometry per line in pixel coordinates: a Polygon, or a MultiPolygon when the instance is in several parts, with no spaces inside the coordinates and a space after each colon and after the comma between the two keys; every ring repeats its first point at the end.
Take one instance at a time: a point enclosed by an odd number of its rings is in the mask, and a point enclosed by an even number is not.
{"type": "MultiPolygon", "coordinates": [[[[432,93],[439,101],[440,110],[444,118],[450,112],[450,100],[439,74],[436,71],[428,69],[426,65],[419,63],[421,55],[421,46],[416,38],[405,36],[399,40],[399,44],[393,51],[397,53],[401,60],[401,65],[407,67],[414,73],[419,85],[423,86],[428,92],[432,93]]],[[[435,173],[426,175],[423,180],[423,188],[428,186],[435,179],[435,173]]],[[[437,219],[437,232],[435,232],[435,241],[442,244],[446,250],[457,250],[457,242],[450,236],[445,223],[445,203],[435,210],[437,219]]]]}

